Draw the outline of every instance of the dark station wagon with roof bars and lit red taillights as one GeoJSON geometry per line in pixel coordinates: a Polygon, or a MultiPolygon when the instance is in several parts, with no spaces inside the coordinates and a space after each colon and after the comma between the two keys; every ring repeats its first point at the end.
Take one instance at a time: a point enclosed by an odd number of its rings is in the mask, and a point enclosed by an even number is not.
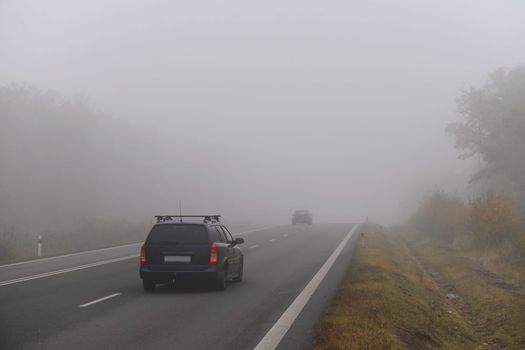
{"type": "Polygon", "coordinates": [[[226,281],[242,281],[244,256],[239,244],[219,222],[220,215],[156,216],[140,251],[140,277],[144,291],[160,283],[206,280],[224,290],[226,281]],[[200,222],[186,221],[201,218],[200,222]],[[175,221],[175,219],[178,219],[175,221]]]}

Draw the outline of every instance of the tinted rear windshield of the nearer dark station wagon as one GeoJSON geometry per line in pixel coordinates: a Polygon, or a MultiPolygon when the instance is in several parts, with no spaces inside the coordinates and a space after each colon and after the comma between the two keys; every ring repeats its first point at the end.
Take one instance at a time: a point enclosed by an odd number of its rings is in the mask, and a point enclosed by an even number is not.
{"type": "Polygon", "coordinates": [[[156,225],[151,229],[148,243],[207,244],[208,231],[203,225],[156,225]]]}

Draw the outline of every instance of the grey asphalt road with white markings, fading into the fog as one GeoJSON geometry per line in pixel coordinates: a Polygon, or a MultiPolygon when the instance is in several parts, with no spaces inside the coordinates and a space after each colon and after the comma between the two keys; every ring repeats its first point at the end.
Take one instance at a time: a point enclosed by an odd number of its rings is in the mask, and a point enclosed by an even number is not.
{"type": "Polygon", "coordinates": [[[298,225],[238,236],[244,281],[224,292],[184,283],[144,293],[139,244],[0,266],[0,349],[310,348],[358,230],[298,225]]]}

